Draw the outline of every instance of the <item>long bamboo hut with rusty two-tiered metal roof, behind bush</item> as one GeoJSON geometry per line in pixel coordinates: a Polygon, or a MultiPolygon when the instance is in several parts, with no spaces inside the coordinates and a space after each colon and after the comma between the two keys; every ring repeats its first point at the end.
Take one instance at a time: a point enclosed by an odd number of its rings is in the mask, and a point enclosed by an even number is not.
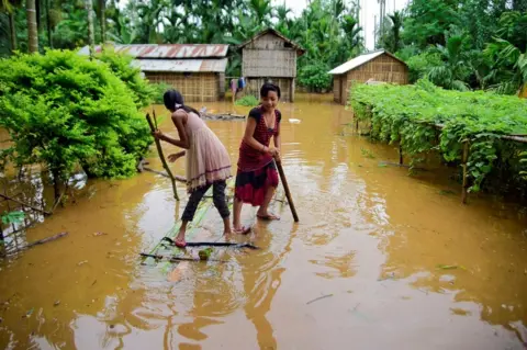
{"type": "MultiPolygon", "coordinates": [[[[113,49],[133,56],[132,65],[150,82],[171,86],[188,102],[213,102],[225,94],[228,45],[115,45],[113,49]]],[[[96,52],[100,50],[97,46],[96,52]]],[[[88,46],[80,50],[80,54],[88,53],[88,46]]]]}

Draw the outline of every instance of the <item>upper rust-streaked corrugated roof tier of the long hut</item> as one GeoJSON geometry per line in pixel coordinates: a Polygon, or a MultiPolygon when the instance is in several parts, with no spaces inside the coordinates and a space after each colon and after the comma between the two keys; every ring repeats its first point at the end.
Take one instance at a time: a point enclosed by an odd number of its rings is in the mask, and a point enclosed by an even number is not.
{"type": "MultiPolygon", "coordinates": [[[[120,54],[127,54],[136,58],[212,58],[226,57],[228,45],[216,44],[138,44],[138,45],[114,45],[114,50],[120,54]]],[[[94,47],[96,53],[101,52],[101,46],[94,47]]],[[[88,46],[79,50],[81,55],[88,55],[88,46]]]]}

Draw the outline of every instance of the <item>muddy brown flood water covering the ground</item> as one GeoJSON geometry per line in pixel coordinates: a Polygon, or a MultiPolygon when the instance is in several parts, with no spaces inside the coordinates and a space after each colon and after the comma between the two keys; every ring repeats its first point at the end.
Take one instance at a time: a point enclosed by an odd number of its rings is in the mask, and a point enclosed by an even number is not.
{"type": "MultiPolygon", "coordinates": [[[[262,249],[216,251],[227,262],[180,263],[167,276],[138,253],[175,225],[183,187],[177,203],[150,172],[90,181],[27,232],[29,241],[69,236],[1,263],[0,347],[524,349],[525,210],[483,195],[462,205],[438,165],[414,176],[382,166],[399,161],[395,146],[354,135],[330,97],[302,98],[280,105],[299,224],[285,206],[280,222],[238,238],[262,249]]],[[[244,122],[208,123],[235,165],[244,122]]],[[[177,134],[167,117],[161,129],[177,134]]],[[[149,167],[161,170],[156,157],[149,167]]],[[[253,208],[244,223],[256,223],[253,208]]],[[[220,239],[222,228],[213,210],[198,236],[220,239]]]]}

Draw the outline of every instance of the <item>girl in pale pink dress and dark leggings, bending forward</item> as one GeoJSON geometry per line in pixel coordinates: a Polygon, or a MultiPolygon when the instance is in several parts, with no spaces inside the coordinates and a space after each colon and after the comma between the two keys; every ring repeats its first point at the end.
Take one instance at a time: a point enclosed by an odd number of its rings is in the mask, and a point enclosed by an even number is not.
{"type": "MultiPolygon", "coordinates": [[[[178,129],[179,139],[172,138],[160,131],[154,137],[171,145],[187,149],[187,188],[189,202],[181,217],[181,228],[176,238],[176,246],[187,245],[184,234],[187,225],[192,222],[198,204],[212,185],[214,206],[220,212],[224,224],[224,234],[229,234],[231,224],[227,202],[225,200],[225,180],[231,178],[231,159],[227,150],[216,135],[201,120],[200,113],[184,105],[183,97],[176,90],[169,90],[164,95],[165,106],[172,113],[173,125],[178,129]]],[[[176,161],[186,151],[168,156],[169,161],[176,161]]]]}

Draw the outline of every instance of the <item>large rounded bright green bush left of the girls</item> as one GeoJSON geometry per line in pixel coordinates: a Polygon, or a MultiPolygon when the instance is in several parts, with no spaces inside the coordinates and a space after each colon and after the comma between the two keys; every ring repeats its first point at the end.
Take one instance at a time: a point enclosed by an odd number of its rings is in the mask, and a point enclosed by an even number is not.
{"type": "Polygon", "coordinates": [[[132,176],[152,137],[131,90],[108,65],[75,52],[0,60],[0,127],[13,139],[2,165],[45,165],[56,183],[77,166],[90,177],[132,176]]]}

